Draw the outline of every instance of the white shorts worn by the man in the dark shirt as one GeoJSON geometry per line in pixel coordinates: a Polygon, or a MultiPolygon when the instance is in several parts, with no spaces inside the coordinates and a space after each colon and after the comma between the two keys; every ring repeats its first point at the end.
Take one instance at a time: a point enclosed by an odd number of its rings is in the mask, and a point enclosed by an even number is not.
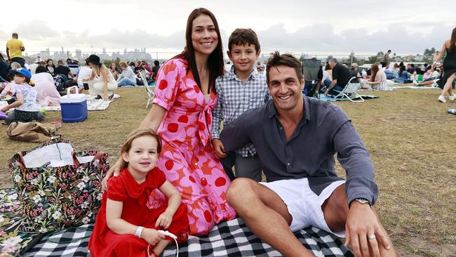
{"type": "Polygon", "coordinates": [[[293,217],[290,230],[293,232],[307,228],[310,225],[333,233],[337,237],[345,237],[345,231],[333,232],[326,224],[321,206],[334,190],[345,183],[337,180],[326,187],[320,195],[316,195],[309,187],[307,178],[276,180],[274,182],[260,182],[276,192],[286,204],[288,213],[293,217]]]}

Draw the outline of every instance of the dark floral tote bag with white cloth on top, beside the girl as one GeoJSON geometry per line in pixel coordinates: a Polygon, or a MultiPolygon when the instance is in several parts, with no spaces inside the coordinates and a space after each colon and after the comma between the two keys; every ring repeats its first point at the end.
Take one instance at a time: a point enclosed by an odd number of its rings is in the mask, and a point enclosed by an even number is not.
{"type": "Polygon", "coordinates": [[[25,216],[20,230],[43,233],[93,223],[107,159],[103,152],[74,152],[63,139],[15,154],[8,165],[25,216]]]}

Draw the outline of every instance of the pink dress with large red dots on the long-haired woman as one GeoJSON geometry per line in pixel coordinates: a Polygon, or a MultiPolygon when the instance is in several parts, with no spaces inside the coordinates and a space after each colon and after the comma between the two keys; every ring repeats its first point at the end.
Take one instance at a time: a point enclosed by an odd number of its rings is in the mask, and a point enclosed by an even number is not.
{"type": "MultiPolygon", "coordinates": [[[[153,103],[167,110],[157,131],[163,143],[157,166],[182,195],[190,234],[206,235],[213,225],[236,218],[226,197],[230,180],[210,143],[217,95],[211,92],[206,104],[187,61],[172,59],[159,70],[153,103]]],[[[154,191],[149,205],[164,200],[154,191]]]]}

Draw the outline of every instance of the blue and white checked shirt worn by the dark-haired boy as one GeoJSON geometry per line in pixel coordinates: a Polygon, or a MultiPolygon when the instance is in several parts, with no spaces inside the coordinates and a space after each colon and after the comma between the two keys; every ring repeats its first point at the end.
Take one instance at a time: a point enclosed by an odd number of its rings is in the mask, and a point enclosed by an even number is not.
{"type": "MultiPolygon", "coordinates": [[[[215,90],[217,91],[217,106],[212,112],[213,123],[211,136],[220,138],[220,121],[229,124],[246,110],[260,107],[269,100],[269,89],[266,84],[266,77],[258,74],[254,69],[247,82],[244,83],[232,69],[215,79],[215,90]]],[[[233,138],[233,140],[236,140],[233,138]]],[[[237,151],[243,157],[257,153],[253,144],[248,144],[237,151]]]]}

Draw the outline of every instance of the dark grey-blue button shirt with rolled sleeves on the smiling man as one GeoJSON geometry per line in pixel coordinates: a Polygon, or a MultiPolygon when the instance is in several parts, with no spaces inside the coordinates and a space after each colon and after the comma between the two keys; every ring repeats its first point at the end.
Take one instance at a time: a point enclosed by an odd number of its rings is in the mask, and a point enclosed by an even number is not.
{"type": "Polygon", "coordinates": [[[248,110],[224,126],[220,140],[232,151],[253,143],[268,181],[307,177],[316,195],[338,178],[334,154],[347,172],[348,203],[356,198],[375,204],[374,166],[344,111],[329,102],[304,97],[304,115],[287,141],[272,100],[248,110]]]}

